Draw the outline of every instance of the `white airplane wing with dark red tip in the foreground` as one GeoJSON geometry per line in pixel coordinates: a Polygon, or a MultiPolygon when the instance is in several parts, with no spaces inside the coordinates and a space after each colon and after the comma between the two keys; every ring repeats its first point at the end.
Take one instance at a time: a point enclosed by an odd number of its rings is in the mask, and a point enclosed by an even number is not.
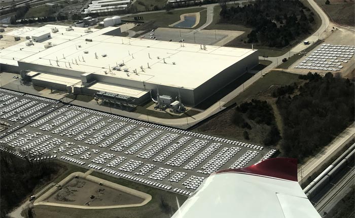
{"type": "Polygon", "coordinates": [[[297,160],[272,158],[211,174],[171,218],[320,218],[297,182],[297,160]]]}

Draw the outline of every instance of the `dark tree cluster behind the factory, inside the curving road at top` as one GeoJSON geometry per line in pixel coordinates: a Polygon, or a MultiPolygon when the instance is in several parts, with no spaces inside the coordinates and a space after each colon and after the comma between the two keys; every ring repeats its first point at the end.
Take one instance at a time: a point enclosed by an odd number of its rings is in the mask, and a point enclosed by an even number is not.
{"type": "Polygon", "coordinates": [[[221,4],[220,22],[251,27],[245,43],[285,47],[312,30],[313,12],[299,0],[257,0],[244,7],[221,4]]]}

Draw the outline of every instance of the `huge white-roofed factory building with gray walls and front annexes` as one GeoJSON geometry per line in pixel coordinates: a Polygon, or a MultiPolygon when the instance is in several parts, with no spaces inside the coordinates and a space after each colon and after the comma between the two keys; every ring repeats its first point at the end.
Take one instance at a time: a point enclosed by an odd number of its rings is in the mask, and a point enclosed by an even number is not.
{"type": "Polygon", "coordinates": [[[119,27],[26,28],[6,34],[47,39],[1,50],[2,70],[21,71],[34,85],[107,93],[135,105],[158,91],[173,100],[180,93],[184,104],[195,106],[258,64],[256,50],[117,37],[119,27]]]}

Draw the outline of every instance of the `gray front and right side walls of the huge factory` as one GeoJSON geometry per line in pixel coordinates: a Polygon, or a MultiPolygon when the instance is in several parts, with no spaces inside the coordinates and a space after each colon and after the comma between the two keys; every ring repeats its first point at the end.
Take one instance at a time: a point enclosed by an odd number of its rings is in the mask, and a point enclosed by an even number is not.
{"type": "MultiPolygon", "coordinates": [[[[196,89],[187,89],[187,88],[179,88],[173,86],[165,86],[165,85],[158,85],[153,83],[141,82],[130,80],[129,77],[125,78],[116,78],[112,75],[97,75],[97,74],[83,74],[83,72],[72,70],[72,69],[63,69],[56,67],[56,62],[52,63],[53,66],[44,66],[39,64],[33,63],[25,63],[19,61],[19,68],[20,69],[27,69],[27,70],[36,70],[40,72],[49,72],[50,74],[60,75],[65,77],[73,77],[77,79],[81,79],[84,83],[89,83],[91,81],[96,80],[97,82],[108,83],[112,85],[120,85],[125,87],[132,87],[137,89],[143,89],[152,91],[152,96],[156,99],[157,95],[157,88],[159,89],[160,95],[169,95],[173,99],[176,96],[180,95],[182,98],[182,102],[186,105],[195,106],[198,103],[202,102],[212,94],[216,93],[217,91],[221,90],[229,83],[233,82],[238,77],[242,76],[246,72],[247,69],[252,69],[254,66],[258,64],[258,52],[255,52],[242,60],[234,63],[233,65],[229,66],[222,72],[220,72],[215,77],[212,77],[196,89]]],[[[35,82],[39,83],[39,82],[35,82]]],[[[49,85],[49,84],[48,84],[49,85]]],[[[39,85],[41,86],[41,85],[39,85]]],[[[42,85],[43,86],[43,85],[42,85]]],[[[48,87],[48,86],[46,86],[48,87]]],[[[54,89],[65,90],[59,85],[54,86],[54,89]],[[55,88],[58,87],[58,88],[55,88]]],[[[81,89],[78,92],[83,93],[86,89],[81,89]]],[[[89,94],[89,93],[88,93],[89,94]]]]}

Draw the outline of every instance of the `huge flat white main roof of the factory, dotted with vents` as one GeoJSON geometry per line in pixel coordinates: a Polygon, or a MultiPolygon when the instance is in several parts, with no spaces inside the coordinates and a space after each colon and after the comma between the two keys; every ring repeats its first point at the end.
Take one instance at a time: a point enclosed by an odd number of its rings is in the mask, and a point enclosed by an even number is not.
{"type": "MultiPolygon", "coordinates": [[[[54,25],[46,26],[54,27],[54,25]]],[[[59,28],[58,25],[56,27],[59,28]]],[[[66,69],[70,69],[68,64],[70,62],[71,69],[82,72],[82,74],[91,72],[106,77],[195,89],[222,70],[256,52],[251,49],[217,46],[206,46],[206,50],[202,50],[200,45],[196,44],[185,43],[183,47],[179,42],[103,35],[117,27],[92,29],[94,31],[92,33],[84,33],[85,28],[80,27],[73,27],[77,30],[74,32],[65,31],[65,26],[61,28],[64,30],[60,29],[57,32],[59,35],[51,33],[52,39],[43,43],[34,43],[34,46],[30,47],[25,46],[25,43],[20,43],[0,51],[0,62],[6,63],[14,57],[15,60],[23,62],[51,66],[49,61],[51,60],[52,67],[66,69]],[[64,38],[72,32],[76,34],[76,37],[72,37],[70,41],[62,39],[60,38],[61,32],[64,33],[64,38]],[[83,36],[78,37],[78,32],[83,36]],[[85,39],[91,39],[92,42],[87,42],[85,39]],[[55,46],[44,49],[43,45],[47,42],[52,42],[55,46]],[[41,46],[38,46],[39,44],[41,46]],[[20,51],[21,47],[23,49],[20,51]],[[95,58],[95,53],[97,58],[95,58]],[[103,54],[107,56],[103,57],[103,54]],[[56,58],[58,58],[59,66],[56,65],[56,58]],[[78,64],[73,64],[75,59],[78,64]],[[110,68],[112,69],[121,62],[125,64],[121,68],[127,68],[128,72],[110,71],[110,68]],[[150,68],[148,68],[148,63],[150,68]]]]}

